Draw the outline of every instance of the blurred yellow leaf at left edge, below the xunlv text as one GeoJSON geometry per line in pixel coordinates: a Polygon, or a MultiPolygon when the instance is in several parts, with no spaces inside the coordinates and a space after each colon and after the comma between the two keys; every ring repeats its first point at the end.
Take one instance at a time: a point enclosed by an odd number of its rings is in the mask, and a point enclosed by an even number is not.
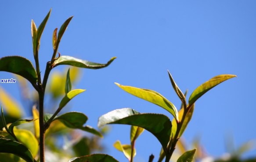
{"type": "MultiPolygon", "coordinates": [[[[1,66],[1,65],[0,65],[1,66]]],[[[0,87],[0,102],[9,116],[20,119],[23,115],[21,106],[3,88],[0,87]]]]}

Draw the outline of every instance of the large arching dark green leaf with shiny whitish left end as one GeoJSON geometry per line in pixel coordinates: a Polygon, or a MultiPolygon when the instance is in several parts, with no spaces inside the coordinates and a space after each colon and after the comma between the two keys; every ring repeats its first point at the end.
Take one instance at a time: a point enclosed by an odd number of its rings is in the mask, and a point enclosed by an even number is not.
{"type": "Polygon", "coordinates": [[[101,116],[98,127],[105,124],[128,124],[142,127],[151,132],[162,144],[165,152],[171,134],[172,123],[169,118],[162,114],[139,114],[130,108],[116,109],[101,116]]]}

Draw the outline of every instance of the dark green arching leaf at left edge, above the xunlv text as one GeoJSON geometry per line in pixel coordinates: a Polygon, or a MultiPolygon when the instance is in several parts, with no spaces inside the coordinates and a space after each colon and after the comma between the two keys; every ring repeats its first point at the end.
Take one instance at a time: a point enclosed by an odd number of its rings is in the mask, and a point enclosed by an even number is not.
{"type": "Polygon", "coordinates": [[[0,58],[0,71],[7,71],[25,77],[35,86],[37,81],[36,70],[32,63],[21,56],[7,56],[0,58]]]}

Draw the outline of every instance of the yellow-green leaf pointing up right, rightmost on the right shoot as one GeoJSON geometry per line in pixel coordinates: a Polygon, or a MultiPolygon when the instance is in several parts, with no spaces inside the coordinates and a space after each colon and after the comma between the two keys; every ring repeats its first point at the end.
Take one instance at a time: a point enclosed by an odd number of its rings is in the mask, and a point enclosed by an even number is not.
{"type": "Polygon", "coordinates": [[[204,95],[207,91],[209,91],[216,85],[233,77],[236,77],[236,75],[222,74],[211,78],[209,81],[206,81],[198,88],[196,88],[194,92],[192,92],[188,100],[189,105],[191,106],[192,104],[194,104],[197,99],[199,99],[202,95],[204,95]]]}

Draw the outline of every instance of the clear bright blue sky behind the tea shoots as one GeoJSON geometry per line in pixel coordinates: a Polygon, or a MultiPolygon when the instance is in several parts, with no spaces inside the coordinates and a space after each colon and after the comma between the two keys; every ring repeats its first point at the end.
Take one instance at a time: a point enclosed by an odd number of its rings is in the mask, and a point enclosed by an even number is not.
{"type": "MultiPolygon", "coordinates": [[[[40,68],[52,55],[54,28],[74,15],[62,38],[59,52],[99,63],[118,58],[101,70],[83,69],[76,88],[87,89],[77,96],[72,110],[89,117],[97,127],[99,116],[123,107],[141,113],[169,114],[158,106],[138,99],[114,82],[155,90],[180,107],[169,82],[167,69],[180,89],[188,94],[219,74],[236,74],[198,100],[194,116],[184,133],[187,143],[196,137],[210,155],[226,150],[224,137],[233,134],[236,146],[256,139],[256,1],[27,1],[0,2],[0,56],[19,55],[33,61],[31,19],[39,26],[52,13],[40,45],[40,68]]],[[[57,67],[55,70],[61,70],[57,67]]],[[[0,78],[13,77],[6,72],[0,78]]],[[[0,85],[20,98],[18,84],[0,85]]],[[[169,116],[171,117],[171,116],[169,116]]],[[[113,125],[102,140],[107,153],[126,161],[112,144],[129,143],[129,126],[113,125]]],[[[137,161],[144,162],[160,144],[148,132],[137,141],[137,161]]],[[[256,155],[251,151],[249,155],[256,155]]]]}

